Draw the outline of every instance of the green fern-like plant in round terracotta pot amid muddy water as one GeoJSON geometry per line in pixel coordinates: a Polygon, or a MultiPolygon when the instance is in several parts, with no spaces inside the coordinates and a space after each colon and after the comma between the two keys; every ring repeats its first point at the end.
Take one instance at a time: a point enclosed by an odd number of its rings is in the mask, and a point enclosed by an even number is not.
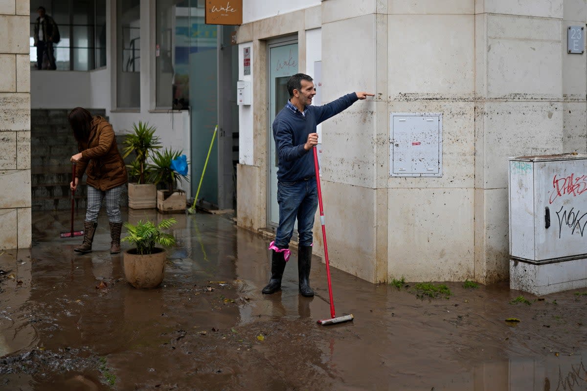
{"type": "Polygon", "coordinates": [[[166,251],[161,247],[171,247],[176,243],[173,234],[163,232],[176,223],[176,219],[161,220],[157,225],[151,221],[139,220],[136,225],[124,223],[127,236],[123,242],[129,242],[134,247],[124,251],[124,277],[135,288],[154,288],[163,281],[165,271],[166,251]]]}

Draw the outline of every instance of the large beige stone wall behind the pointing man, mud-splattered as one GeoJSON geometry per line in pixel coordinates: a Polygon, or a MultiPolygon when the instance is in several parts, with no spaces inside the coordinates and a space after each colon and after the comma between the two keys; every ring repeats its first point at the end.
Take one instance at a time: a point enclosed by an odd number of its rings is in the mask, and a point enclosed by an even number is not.
{"type": "MultiPolygon", "coordinates": [[[[323,0],[320,12],[323,103],[347,90],[376,94],[322,125],[331,264],[372,282],[507,279],[508,157],[587,152],[587,54],[566,53],[586,2],[323,0]],[[443,113],[441,178],[390,178],[393,112],[443,113]]],[[[299,16],[251,23],[243,35],[262,44],[299,16]]],[[[265,79],[263,59],[254,66],[265,79]]],[[[254,125],[262,140],[265,123],[254,125]]],[[[255,145],[261,161],[246,171],[239,208],[264,192],[265,151],[255,145]]],[[[265,194],[255,199],[264,208],[265,194]]],[[[239,224],[263,226],[257,210],[243,208],[239,224]]]]}

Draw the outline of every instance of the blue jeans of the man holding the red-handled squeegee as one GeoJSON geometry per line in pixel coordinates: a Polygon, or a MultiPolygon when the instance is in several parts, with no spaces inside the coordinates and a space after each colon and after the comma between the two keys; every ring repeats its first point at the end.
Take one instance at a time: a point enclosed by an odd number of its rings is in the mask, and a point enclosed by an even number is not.
{"type": "Polygon", "coordinates": [[[318,189],[313,176],[298,182],[277,183],[277,203],[279,204],[279,226],[275,234],[275,246],[287,249],[298,219],[298,242],[301,246],[311,246],[314,215],[318,207],[318,189]]]}

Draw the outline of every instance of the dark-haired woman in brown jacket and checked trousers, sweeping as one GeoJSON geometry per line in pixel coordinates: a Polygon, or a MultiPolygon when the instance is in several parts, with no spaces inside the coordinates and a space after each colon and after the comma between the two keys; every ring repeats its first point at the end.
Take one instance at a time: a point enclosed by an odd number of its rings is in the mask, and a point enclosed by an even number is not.
{"type": "Polygon", "coordinates": [[[112,238],[110,254],[120,253],[120,193],[127,182],[127,175],[126,166],[116,145],[114,130],[104,118],[99,115],[92,117],[92,114],[82,107],[74,108],[68,118],[79,151],[71,158],[71,161],[77,164],[75,183],[70,183],[71,189],[75,191],[84,172],[87,174],[87,210],[83,225],[83,243],[73,250],[78,253],[92,251],[98,213],[102,200],[106,198],[106,212],[110,220],[112,238]]]}

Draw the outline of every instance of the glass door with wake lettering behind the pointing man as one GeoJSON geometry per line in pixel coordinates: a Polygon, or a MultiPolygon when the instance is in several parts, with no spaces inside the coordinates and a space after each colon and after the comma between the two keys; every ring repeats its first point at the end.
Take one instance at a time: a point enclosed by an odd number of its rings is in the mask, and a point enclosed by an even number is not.
{"type": "Polygon", "coordinates": [[[288,102],[289,94],[286,84],[292,74],[298,73],[298,42],[286,42],[269,45],[269,171],[268,171],[268,223],[277,226],[279,223],[279,205],[277,204],[277,154],[273,138],[273,121],[275,116],[288,102]]]}

